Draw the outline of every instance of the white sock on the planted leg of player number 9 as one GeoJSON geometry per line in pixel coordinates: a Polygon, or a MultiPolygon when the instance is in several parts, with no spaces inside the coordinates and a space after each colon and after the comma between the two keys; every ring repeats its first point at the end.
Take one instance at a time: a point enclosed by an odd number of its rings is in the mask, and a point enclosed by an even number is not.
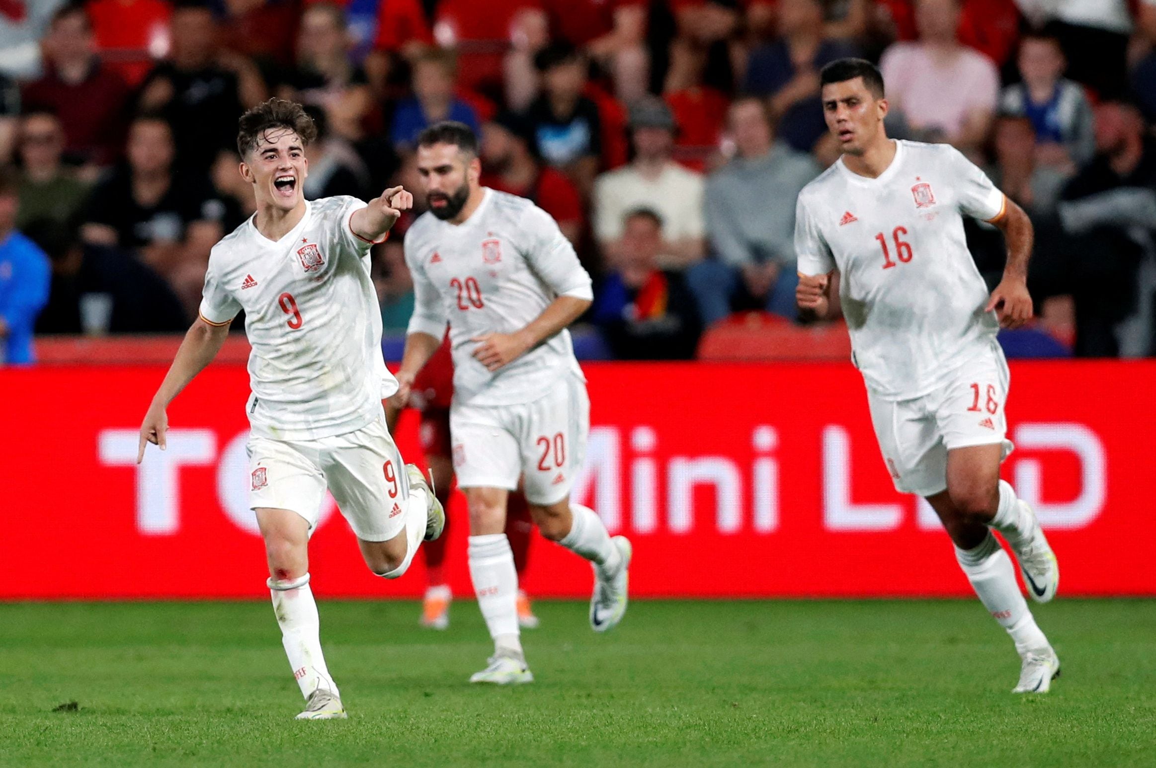
{"type": "Polygon", "coordinates": [[[321,654],[321,620],[317,616],[313,590],[309,588],[309,574],[294,581],[269,579],[266,583],[273,596],[273,612],[281,625],[281,644],[302,695],[309,699],[318,688],[327,688],[340,698],[321,654]]]}

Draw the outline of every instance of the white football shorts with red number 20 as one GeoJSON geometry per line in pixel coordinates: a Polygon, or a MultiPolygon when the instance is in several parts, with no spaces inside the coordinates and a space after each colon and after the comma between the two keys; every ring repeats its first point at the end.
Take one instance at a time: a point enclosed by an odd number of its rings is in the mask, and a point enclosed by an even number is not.
{"type": "Polygon", "coordinates": [[[586,457],[588,434],[586,385],[569,373],[529,403],[454,403],[450,409],[458,486],[513,491],[525,477],[526,500],[536,505],[550,505],[570,494],[586,457]]]}

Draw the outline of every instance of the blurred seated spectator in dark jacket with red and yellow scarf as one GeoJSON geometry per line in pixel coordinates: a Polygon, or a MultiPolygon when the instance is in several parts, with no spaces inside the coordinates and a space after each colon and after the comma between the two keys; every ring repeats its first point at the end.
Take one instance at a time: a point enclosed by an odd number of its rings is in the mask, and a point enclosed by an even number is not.
{"type": "Polygon", "coordinates": [[[621,245],[594,292],[591,320],[623,360],[687,360],[702,322],[683,274],[659,268],[662,219],[639,208],[623,217],[621,245]]]}

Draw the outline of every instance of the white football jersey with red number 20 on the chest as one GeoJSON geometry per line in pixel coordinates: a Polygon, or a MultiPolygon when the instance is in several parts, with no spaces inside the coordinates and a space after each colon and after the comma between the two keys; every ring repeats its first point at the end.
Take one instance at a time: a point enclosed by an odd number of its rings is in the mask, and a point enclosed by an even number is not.
{"type": "Polygon", "coordinates": [[[521,330],[558,296],[591,299],[591,279],[549,214],[525,197],[489,188],[484,194],[461,224],[427,212],[406,232],[415,294],[409,333],[442,338],[450,323],[455,403],[528,403],[558,375],[581,376],[570,333],[562,330],[496,373],[473,357],[479,344],[470,338],[521,330]]]}

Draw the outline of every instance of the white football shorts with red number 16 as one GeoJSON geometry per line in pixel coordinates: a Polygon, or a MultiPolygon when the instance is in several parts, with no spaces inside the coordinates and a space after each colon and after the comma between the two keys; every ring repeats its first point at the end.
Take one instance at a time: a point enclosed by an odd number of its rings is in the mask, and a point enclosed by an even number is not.
{"type": "Polygon", "coordinates": [[[901,493],[934,495],[947,489],[947,452],[969,446],[1014,446],[1007,439],[1010,374],[1003,350],[990,349],[955,371],[935,390],[912,400],[884,400],[867,390],[875,437],[901,493]]]}

